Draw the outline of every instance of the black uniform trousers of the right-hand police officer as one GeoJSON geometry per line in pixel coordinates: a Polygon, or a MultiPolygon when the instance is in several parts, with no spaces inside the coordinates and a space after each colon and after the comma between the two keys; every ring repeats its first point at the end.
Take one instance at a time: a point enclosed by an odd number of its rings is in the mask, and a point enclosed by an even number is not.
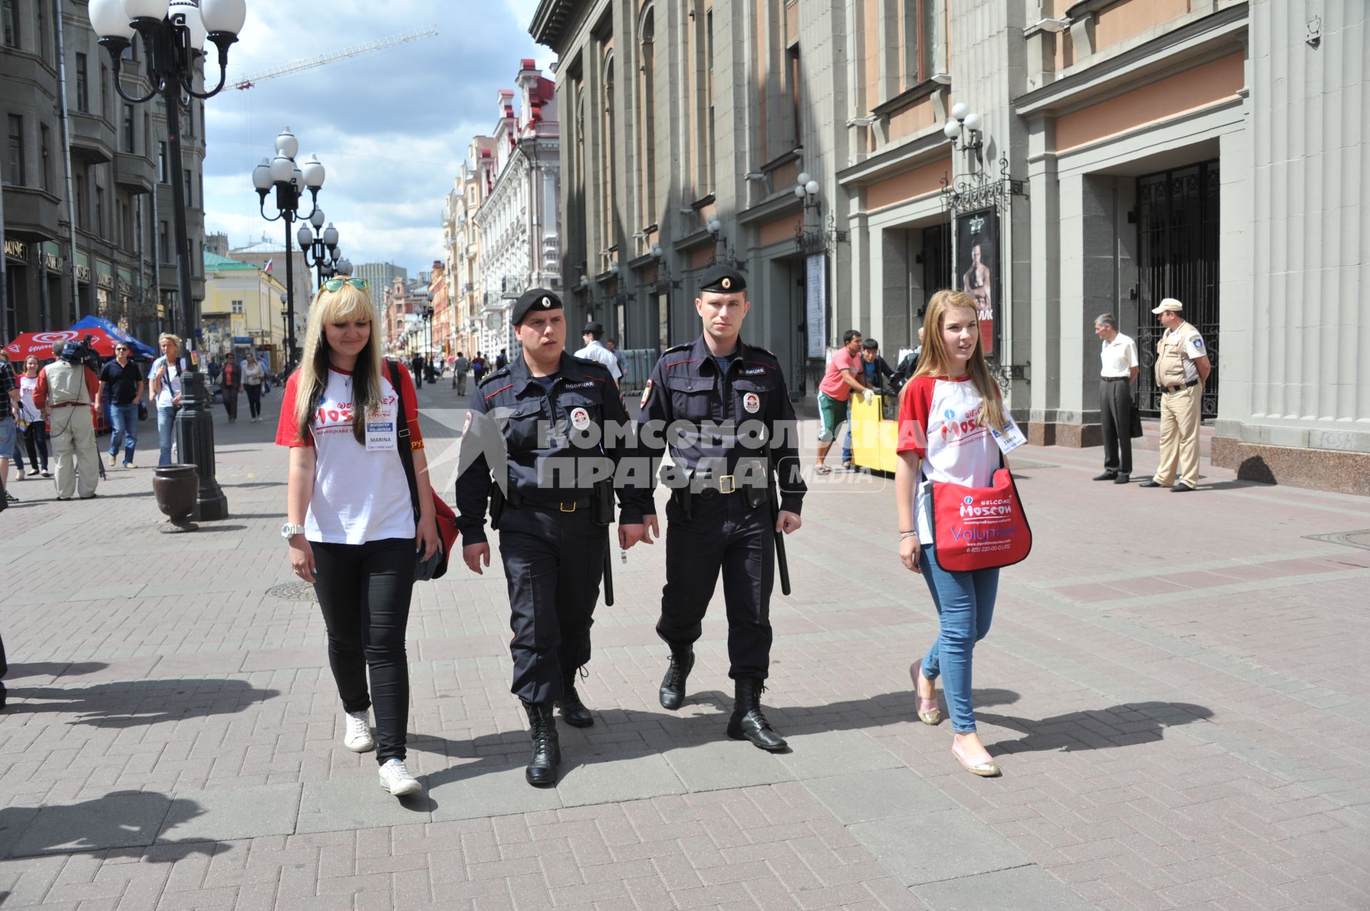
{"type": "Polygon", "coordinates": [[[704,611],[723,571],[727,675],[766,678],[770,669],[770,595],[775,582],[771,512],[747,506],[744,492],[695,496],[685,521],[666,506],[666,588],[656,634],[684,648],[700,637],[704,611]]]}

